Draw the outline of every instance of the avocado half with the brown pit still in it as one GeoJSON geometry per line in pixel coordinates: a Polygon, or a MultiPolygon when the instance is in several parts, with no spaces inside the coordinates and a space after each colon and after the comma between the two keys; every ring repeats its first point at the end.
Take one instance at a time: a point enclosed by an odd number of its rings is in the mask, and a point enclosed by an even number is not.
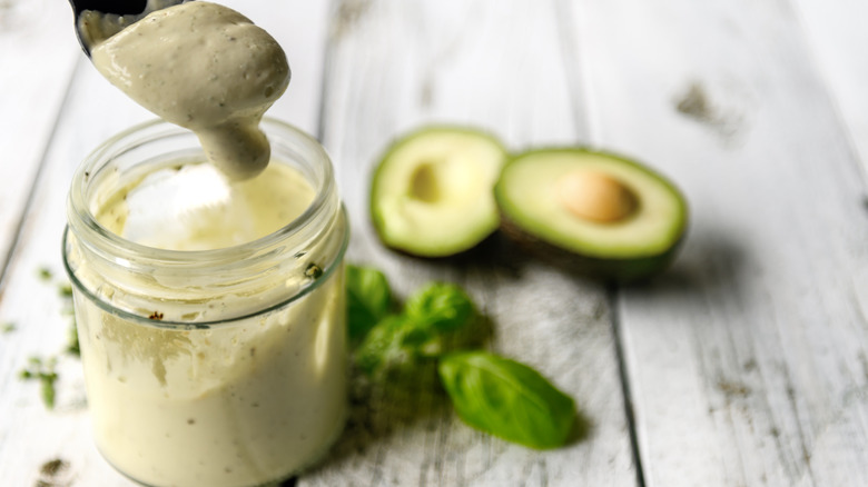
{"type": "Polygon", "coordinates": [[[494,188],[504,233],[560,266],[613,281],[663,270],[684,236],[678,188],[633,160],[581,148],[532,150],[494,188]]]}

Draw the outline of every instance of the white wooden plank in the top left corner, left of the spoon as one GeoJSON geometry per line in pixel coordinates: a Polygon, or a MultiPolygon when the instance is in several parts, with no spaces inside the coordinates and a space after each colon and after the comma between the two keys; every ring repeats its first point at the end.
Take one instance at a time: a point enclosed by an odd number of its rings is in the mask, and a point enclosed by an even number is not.
{"type": "Polygon", "coordinates": [[[0,3],[0,277],[80,52],[65,2],[0,3]]]}

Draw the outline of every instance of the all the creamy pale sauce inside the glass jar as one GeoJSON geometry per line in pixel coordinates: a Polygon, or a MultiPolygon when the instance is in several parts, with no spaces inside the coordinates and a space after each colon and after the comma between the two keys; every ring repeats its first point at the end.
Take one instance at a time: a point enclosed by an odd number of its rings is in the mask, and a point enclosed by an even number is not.
{"type": "MultiPolygon", "coordinates": [[[[93,209],[103,227],[171,250],[257,239],[297,218],[314,198],[304,176],[279,161],[231,185],[200,162],[156,167],[106,189],[93,209]],[[215,197],[187,192],[201,181],[215,197]],[[174,198],[187,197],[195,203],[170,211],[184,206],[174,198]]],[[[343,232],[343,223],[339,228],[343,232]]],[[[323,240],[308,251],[322,255],[319,247],[328,245],[323,240]]],[[[139,279],[122,268],[97,276],[86,262],[71,260],[83,281],[120,281],[144,294],[161,286],[160,279],[139,279]]],[[[194,307],[200,311],[193,321],[266,299],[286,279],[275,272],[259,284],[259,292],[215,291],[194,307]]],[[[285,308],[207,330],[144,326],[77,294],[88,404],[102,455],[148,485],[190,487],[260,485],[316,460],[341,433],[345,415],[343,287],[338,270],[285,308]]],[[[111,289],[98,291],[102,300],[119,298],[111,289]]],[[[155,319],[181,321],[189,305],[155,300],[147,306],[158,307],[155,319]]]]}

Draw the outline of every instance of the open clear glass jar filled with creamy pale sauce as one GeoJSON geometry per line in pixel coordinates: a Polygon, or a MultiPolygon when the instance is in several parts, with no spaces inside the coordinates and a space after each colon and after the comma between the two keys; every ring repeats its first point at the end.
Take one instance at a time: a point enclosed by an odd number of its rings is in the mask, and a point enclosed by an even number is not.
{"type": "MultiPolygon", "coordinates": [[[[99,147],[72,179],[63,257],[95,440],[139,483],[273,483],[315,461],[343,429],[346,216],[322,146],[272,119],[262,129],[270,165],[300,172],[313,202],[239,245],[168,250],[106,223],[106,208],[131,188],[205,160],[185,129],[135,127],[99,147]]],[[[162,191],[145,209],[197,197],[162,191]]],[[[117,216],[121,227],[132,212],[117,216]]],[[[159,237],[175,227],[145,228],[159,237]]]]}

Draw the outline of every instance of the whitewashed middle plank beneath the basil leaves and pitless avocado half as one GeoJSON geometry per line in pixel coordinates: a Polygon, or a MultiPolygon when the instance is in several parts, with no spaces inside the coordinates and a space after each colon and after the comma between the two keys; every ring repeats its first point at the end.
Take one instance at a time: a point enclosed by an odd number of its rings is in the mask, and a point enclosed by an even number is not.
{"type": "Polygon", "coordinates": [[[589,437],[537,453],[456,420],[435,379],[355,390],[347,431],[299,485],[634,485],[604,292],[530,261],[501,239],[465,259],[385,250],[367,188],[386,146],[438,122],[492,131],[511,149],[581,137],[554,2],[343,1],[332,26],[324,141],[353,225],[349,260],[406,296],[431,279],[467,287],[496,329],[491,348],[537,367],[572,395],[589,437]]]}

